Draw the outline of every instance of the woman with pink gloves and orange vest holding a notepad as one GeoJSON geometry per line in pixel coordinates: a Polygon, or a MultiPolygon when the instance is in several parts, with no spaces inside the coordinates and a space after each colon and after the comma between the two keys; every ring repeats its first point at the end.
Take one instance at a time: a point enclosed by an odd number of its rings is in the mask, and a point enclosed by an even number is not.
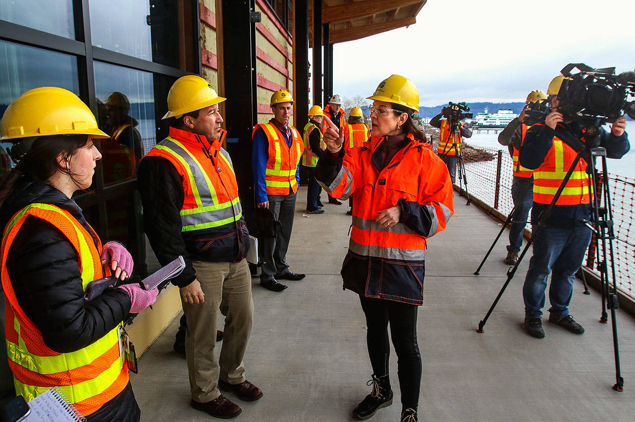
{"type": "Polygon", "coordinates": [[[93,280],[128,278],[132,257],[102,243],[73,201],[92,183],[108,137],[90,109],[62,88],[23,93],[4,112],[0,140],[17,166],[0,180],[5,336],[14,386],[30,400],[57,386],[88,421],[138,421],[121,352],[122,322],[157,290],[109,287],[88,301],[93,280]]]}

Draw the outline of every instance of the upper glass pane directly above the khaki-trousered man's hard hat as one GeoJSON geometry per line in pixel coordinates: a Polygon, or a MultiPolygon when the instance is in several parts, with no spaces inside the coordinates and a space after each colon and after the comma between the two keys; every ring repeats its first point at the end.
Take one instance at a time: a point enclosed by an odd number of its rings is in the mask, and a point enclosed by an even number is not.
{"type": "Polygon", "coordinates": [[[93,45],[150,62],[178,67],[178,2],[90,2],[93,45]]]}

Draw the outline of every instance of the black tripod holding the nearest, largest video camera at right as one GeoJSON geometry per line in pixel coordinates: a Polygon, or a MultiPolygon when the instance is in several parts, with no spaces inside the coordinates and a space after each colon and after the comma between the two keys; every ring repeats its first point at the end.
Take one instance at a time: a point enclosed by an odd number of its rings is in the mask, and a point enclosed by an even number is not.
{"type": "Polygon", "coordinates": [[[568,172],[566,173],[560,186],[558,187],[556,194],[554,194],[554,198],[551,200],[551,203],[549,203],[549,206],[540,215],[540,218],[538,219],[538,224],[536,224],[535,228],[533,229],[531,233],[531,238],[529,242],[527,243],[526,247],[523,249],[523,252],[519,256],[518,262],[516,262],[516,265],[514,265],[512,268],[509,269],[509,271],[507,271],[507,280],[505,280],[505,283],[502,289],[500,290],[500,292],[498,292],[498,296],[496,297],[494,302],[491,304],[490,310],[488,310],[487,314],[485,315],[485,318],[483,318],[483,320],[479,322],[477,331],[481,333],[485,332],[484,327],[488,318],[490,317],[495,306],[498,304],[498,301],[500,300],[500,297],[502,297],[503,293],[505,292],[505,289],[507,289],[507,285],[509,285],[509,282],[511,282],[512,278],[514,277],[520,262],[522,261],[523,257],[525,257],[525,254],[527,250],[529,249],[529,247],[531,246],[531,243],[533,243],[533,240],[535,240],[536,234],[538,233],[538,231],[540,231],[540,229],[544,227],[547,221],[547,218],[549,217],[549,214],[551,213],[552,208],[554,207],[554,205],[556,205],[558,198],[561,196],[563,190],[565,189],[565,186],[568,180],[571,178],[573,171],[577,167],[578,161],[580,161],[580,158],[584,157],[585,161],[587,161],[588,163],[587,174],[589,174],[589,177],[591,178],[591,186],[594,187],[594,192],[597,191],[597,189],[595,189],[598,184],[597,173],[595,168],[595,158],[599,156],[601,157],[601,160],[602,160],[601,191],[603,194],[601,195],[601,198],[598,198],[596,194],[591,194],[591,204],[592,204],[594,225],[591,226],[591,222],[589,221],[585,221],[585,224],[592,227],[592,230],[596,234],[596,242],[598,243],[601,242],[601,245],[602,245],[602,259],[601,261],[598,259],[598,270],[600,273],[600,280],[601,280],[603,310],[604,310],[604,304],[606,301],[606,308],[611,311],[611,320],[612,320],[612,329],[613,329],[613,353],[615,355],[615,379],[616,379],[616,383],[615,385],[613,385],[613,390],[624,391],[624,379],[622,378],[621,372],[620,372],[620,357],[619,357],[619,346],[618,346],[618,336],[617,336],[616,310],[619,307],[619,305],[617,300],[617,283],[615,280],[615,264],[613,263],[613,239],[615,238],[615,235],[613,233],[613,211],[611,208],[610,194],[608,189],[608,177],[607,177],[607,170],[606,170],[607,169],[606,150],[603,147],[593,147],[593,145],[599,144],[598,126],[587,127],[587,130],[585,132],[585,140],[586,142],[584,147],[582,147],[582,149],[580,149],[580,151],[577,153],[575,160],[573,160],[572,165],[569,168],[568,172]],[[607,243],[608,243],[608,248],[607,248],[607,243]],[[608,256],[607,256],[607,250],[608,250],[608,256]],[[611,280],[613,283],[612,285],[608,276],[609,266],[607,264],[607,257],[610,257],[611,280]]]}

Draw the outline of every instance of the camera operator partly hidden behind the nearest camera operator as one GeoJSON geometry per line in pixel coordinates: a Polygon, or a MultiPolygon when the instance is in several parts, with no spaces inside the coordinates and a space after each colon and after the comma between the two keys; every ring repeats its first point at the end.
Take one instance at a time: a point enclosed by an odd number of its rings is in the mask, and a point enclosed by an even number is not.
{"type": "Polygon", "coordinates": [[[507,245],[507,257],[505,264],[515,265],[518,261],[518,252],[523,246],[523,229],[527,224],[527,217],[533,202],[533,170],[520,165],[518,161],[518,151],[525,139],[528,125],[525,123],[527,108],[536,101],[544,101],[547,99],[542,91],[531,91],[525,100],[525,107],[520,115],[513,119],[498,134],[498,143],[505,145],[509,149],[509,155],[514,161],[514,180],[512,181],[512,201],[514,201],[514,214],[512,215],[512,224],[509,228],[509,245],[507,245]],[[529,185],[529,186],[527,186],[529,185]],[[525,194],[523,194],[523,192],[525,194]]]}

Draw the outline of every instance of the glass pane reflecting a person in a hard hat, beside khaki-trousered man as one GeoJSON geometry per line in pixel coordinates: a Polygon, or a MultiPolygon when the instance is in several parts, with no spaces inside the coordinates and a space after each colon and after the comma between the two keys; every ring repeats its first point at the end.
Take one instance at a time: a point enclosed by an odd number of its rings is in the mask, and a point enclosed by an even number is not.
{"type": "Polygon", "coordinates": [[[150,72],[95,62],[95,93],[104,184],[132,179],[142,156],[156,144],[154,83],[150,72]]]}

